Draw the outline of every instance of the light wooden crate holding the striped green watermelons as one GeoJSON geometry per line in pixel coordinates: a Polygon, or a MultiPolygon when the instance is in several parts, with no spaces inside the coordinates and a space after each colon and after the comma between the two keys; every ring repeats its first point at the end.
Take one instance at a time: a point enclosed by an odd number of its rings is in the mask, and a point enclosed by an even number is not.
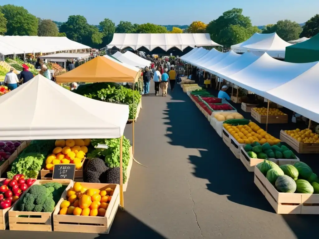
{"type": "Polygon", "coordinates": [[[254,174],[255,185],[277,214],[319,214],[319,194],[278,192],[256,166],[254,174]]]}

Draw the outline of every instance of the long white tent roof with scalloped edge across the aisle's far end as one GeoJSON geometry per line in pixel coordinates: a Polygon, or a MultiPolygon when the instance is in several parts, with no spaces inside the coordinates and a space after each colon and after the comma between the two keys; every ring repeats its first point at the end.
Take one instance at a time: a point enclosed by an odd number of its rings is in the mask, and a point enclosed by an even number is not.
{"type": "Polygon", "coordinates": [[[213,42],[208,33],[114,33],[113,39],[107,47],[119,49],[131,47],[134,50],[145,47],[150,51],[155,47],[160,47],[164,51],[177,47],[182,51],[186,47],[195,46],[220,45],[213,42]]]}

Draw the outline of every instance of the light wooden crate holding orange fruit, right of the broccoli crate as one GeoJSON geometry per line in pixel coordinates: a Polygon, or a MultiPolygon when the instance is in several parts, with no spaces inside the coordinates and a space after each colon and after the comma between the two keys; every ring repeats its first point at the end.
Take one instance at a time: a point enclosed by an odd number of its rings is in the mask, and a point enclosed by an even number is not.
{"type": "Polygon", "coordinates": [[[120,185],[117,184],[95,184],[82,183],[85,188],[96,188],[104,190],[114,189],[112,199],[104,217],[59,215],[61,199],[56,205],[53,213],[53,230],[58,232],[81,232],[81,233],[103,233],[108,234],[112,226],[115,214],[120,205],[120,185]]]}

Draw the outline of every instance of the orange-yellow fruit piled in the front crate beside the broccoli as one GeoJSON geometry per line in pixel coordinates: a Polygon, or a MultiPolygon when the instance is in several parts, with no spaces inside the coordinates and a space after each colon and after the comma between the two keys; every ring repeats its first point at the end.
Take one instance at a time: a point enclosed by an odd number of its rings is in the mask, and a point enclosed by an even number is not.
{"type": "Polygon", "coordinates": [[[67,191],[68,198],[61,202],[59,214],[104,217],[113,192],[111,188],[86,189],[76,182],[67,191]]]}

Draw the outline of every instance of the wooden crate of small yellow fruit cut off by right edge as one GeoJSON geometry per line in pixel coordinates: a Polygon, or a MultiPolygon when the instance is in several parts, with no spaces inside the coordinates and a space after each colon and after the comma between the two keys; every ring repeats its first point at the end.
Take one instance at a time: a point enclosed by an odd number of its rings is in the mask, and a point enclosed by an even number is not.
{"type": "Polygon", "coordinates": [[[280,131],[280,140],[288,144],[300,154],[319,154],[319,143],[303,143],[299,142],[285,131],[280,131]]]}

